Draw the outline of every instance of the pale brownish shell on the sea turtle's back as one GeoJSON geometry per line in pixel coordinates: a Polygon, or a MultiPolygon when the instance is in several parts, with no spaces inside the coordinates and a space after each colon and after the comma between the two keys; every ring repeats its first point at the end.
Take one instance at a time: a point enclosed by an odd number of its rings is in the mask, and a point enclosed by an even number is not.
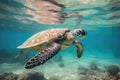
{"type": "MultiPolygon", "coordinates": [[[[36,33],[29,39],[27,39],[22,45],[17,48],[31,48],[49,42],[51,40],[57,39],[60,36],[64,37],[64,34],[69,31],[67,28],[63,29],[49,29],[36,33]]],[[[58,39],[59,40],[59,39],[58,39]]]]}

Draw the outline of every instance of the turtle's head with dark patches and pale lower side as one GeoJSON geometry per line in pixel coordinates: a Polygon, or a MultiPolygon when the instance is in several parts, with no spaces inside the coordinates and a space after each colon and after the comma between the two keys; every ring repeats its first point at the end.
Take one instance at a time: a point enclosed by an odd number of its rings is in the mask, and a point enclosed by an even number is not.
{"type": "Polygon", "coordinates": [[[84,29],[75,29],[71,31],[71,34],[73,40],[80,40],[87,35],[87,32],[84,29]]]}

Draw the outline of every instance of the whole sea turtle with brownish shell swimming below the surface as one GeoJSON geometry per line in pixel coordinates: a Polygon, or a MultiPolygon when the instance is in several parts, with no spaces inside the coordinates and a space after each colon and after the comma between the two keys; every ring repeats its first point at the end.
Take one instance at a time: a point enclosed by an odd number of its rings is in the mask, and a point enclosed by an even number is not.
{"type": "Polygon", "coordinates": [[[20,54],[26,50],[36,50],[40,53],[32,57],[25,64],[26,69],[44,64],[50,58],[55,56],[60,50],[66,49],[74,44],[77,49],[77,57],[80,58],[83,52],[83,46],[78,40],[86,36],[84,29],[75,29],[70,31],[67,28],[49,29],[36,33],[17,48],[22,49],[20,54]]]}

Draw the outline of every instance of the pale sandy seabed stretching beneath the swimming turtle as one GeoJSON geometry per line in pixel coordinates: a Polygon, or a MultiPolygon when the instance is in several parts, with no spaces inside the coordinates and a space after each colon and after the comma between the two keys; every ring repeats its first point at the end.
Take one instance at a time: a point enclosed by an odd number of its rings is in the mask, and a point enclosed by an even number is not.
{"type": "MultiPolygon", "coordinates": [[[[107,58],[102,57],[99,54],[96,57],[93,55],[88,55],[86,57],[86,54],[80,59],[73,55],[60,54],[46,62],[44,65],[33,69],[24,69],[24,65],[19,63],[3,63],[0,65],[0,72],[1,74],[13,72],[14,74],[19,75],[23,72],[35,71],[44,74],[44,77],[48,80],[107,80],[102,79],[106,76],[108,77],[107,67],[110,65],[120,67],[120,59],[116,59],[110,54],[108,54],[109,57],[107,58]]],[[[107,54],[105,56],[107,56],[107,54]]]]}

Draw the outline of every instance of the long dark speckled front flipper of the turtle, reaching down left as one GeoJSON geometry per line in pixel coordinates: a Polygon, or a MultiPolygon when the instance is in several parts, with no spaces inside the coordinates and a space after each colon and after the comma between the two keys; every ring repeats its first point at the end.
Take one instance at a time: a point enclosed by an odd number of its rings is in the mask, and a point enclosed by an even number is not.
{"type": "Polygon", "coordinates": [[[25,68],[30,69],[44,64],[46,61],[55,56],[59,52],[60,48],[61,47],[59,44],[53,43],[49,48],[43,50],[41,53],[28,60],[28,62],[25,64],[25,68]]]}

